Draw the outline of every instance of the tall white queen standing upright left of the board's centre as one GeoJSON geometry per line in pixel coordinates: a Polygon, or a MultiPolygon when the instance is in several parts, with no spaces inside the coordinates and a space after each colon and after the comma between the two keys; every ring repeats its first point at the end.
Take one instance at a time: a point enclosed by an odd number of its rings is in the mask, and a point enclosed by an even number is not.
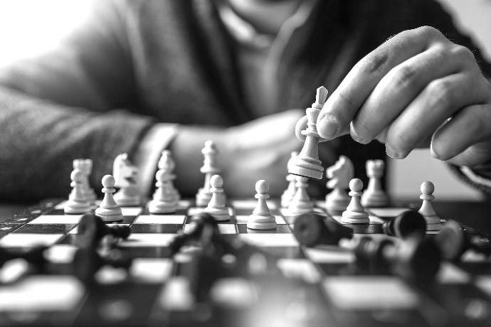
{"type": "Polygon", "coordinates": [[[213,141],[206,141],[201,153],[204,156],[204,161],[203,166],[201,166],[199,171],[205,174],[205,182],[204,186],[198,190],[198,193],[196,193],[196,205],[199,207],[206,207],[211,200],[210,178],[211,176],[219,173],[220,168],[216,166],[218,150],[216,149],[213,141]]]}

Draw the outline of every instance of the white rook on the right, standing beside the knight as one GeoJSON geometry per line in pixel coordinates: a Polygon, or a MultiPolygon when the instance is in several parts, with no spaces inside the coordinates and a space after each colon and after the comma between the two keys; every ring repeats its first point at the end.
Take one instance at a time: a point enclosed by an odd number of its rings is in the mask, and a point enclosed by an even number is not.
{"type": "Polygon", "coordinates": [[[366,208],[386,207],[389,196],[382,189],[381,177],[384,176],[385,163],[383,160],[367,160],[366,176],[370,178],[369,185],[361,195],[361,204],[366,208]]]}

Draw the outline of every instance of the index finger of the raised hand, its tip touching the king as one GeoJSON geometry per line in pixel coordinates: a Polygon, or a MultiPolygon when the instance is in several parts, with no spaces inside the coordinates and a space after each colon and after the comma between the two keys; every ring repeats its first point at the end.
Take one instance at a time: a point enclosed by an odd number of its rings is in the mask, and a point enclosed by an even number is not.
{"type": "Polygon", "coordinates": [[[435,40],[448,42],[435,28],[404,31],[354,65],[322,108],[317,119],[320,136],[332,139],[348,132],[349,123],[382,77],[396,65],[422,53],[435,40]]]}

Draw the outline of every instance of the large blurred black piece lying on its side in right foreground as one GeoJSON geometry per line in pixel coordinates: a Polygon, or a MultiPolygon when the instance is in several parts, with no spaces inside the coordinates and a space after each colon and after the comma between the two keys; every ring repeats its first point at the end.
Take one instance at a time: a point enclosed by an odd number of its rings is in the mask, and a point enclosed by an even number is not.
{"type": "Polygon", "coordinates": [[[416,283],[431,282],[440,269],[441,254],[431,238],[418,235],[394,244],[389,239],[360,237],[354,245],[357,262],[376,271],[388,271],[416,283]]]}

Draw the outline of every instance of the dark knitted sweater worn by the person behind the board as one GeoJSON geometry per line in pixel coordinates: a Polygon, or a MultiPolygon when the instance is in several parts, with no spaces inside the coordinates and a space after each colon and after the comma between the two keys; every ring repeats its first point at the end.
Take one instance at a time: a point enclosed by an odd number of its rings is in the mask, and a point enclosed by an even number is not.
{"type": "MultiPolygon", "coordinates": [[[[0,71],[0,200],[66,196],[75,158],[93,159],[90,183],[99,185],[115,156],[131,156],[157,122],[228,127],[257,116],[243,101],[213,1],[97,2],[93,18],[52,53],[0,71]]],[[[281,58],[278,110],[308,107],[318,85],[334,90],[360,58],[409,28],[434,26],[475,50],[432,0],[320,1],[312,20],[302,50],[281,58]]],[[[343,137],[338,153],[362,176],[384,146],[343,137]]]]}

